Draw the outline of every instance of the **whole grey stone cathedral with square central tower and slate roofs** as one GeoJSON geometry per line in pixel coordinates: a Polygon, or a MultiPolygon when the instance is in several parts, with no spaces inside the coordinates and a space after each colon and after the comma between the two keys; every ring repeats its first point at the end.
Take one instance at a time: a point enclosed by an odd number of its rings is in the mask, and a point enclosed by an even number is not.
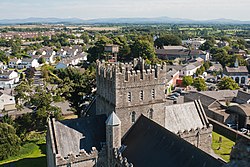
{"type": "Polygon", "coordinates": [[[210,155],[212,125],[200,101],[165,98],[166,64],[97,61],[96,98],[86,117],[47,131],[47,166],[219,167],[210,155]]]}

